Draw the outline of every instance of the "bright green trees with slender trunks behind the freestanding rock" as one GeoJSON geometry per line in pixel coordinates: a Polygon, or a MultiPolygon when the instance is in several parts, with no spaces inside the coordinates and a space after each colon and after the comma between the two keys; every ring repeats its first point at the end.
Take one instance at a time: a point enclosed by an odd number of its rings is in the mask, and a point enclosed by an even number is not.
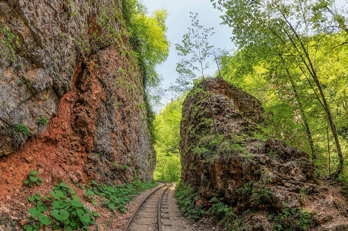
{"type": "Polygon", "coordinates": [[[348,147],[345,7],[330,10],[315,0],[212,2],[239,46],[220,57],[224,79],[263,102],[272,114],[266,116],[271,136],[311,153],[319,175],[332,173],[348,147]]]}

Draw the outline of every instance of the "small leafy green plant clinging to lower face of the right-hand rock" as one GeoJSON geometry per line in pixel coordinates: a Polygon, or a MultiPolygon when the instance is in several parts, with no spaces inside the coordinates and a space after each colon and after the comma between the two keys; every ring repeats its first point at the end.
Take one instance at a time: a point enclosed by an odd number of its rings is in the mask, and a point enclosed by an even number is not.
{"type": "Polygon", "coordinates": [[[244,188],[241,188],[239,192],[243,196],[250,197],[250,201],[254,205],[266,202],[273,194],[271,187],[265,187],[254,181],[246,183],[244,188]]]}

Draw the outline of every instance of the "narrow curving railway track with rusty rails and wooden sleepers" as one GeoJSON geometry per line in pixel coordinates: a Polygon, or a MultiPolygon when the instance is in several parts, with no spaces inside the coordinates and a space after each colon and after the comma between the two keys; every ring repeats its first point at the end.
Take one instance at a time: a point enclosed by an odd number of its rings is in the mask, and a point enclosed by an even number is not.
{"type": "Polygon", "coordinates": [[[169,187],[173,184],[165,181],[157,182],[164,183],[164,185],[153,191],[140,203],[123,231],[131,230],[134,224],[157,226],[158,231],[162,231],[162,225],[171,225],[170,222],[162,221],[162,219],[169,219],[168,193],[169,187]]]}

